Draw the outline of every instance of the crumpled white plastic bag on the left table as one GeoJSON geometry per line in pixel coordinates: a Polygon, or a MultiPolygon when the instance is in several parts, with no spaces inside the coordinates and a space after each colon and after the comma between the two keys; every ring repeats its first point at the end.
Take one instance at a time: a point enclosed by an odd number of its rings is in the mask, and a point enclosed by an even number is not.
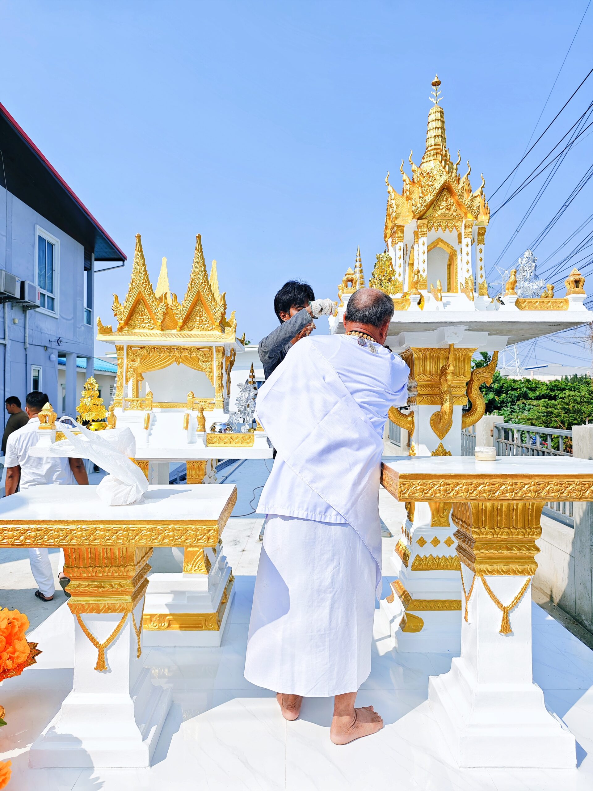
{"type": "Polygon", "coordinates": [[[59,421],[58,425],[66,435],[66,440],[60,442],[62,448],[67,448],[67,442],[77,456],[90,459],[108,472],[96,487],[96,494],[104,503],[131,505],[142,501],[149,484],[138,464],[130,459],[136,453],[136,441],[130,429],[89,431],[77,423],[81,433],[75,434],[68,423],[59,421]]]}

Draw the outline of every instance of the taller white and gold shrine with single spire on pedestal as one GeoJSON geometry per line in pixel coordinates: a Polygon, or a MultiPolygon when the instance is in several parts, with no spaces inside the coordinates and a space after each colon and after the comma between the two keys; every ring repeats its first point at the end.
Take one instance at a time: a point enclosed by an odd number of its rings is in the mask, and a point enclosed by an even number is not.
{"type": "MultiPolygon", "coordinates": [[[[410,367],[407,407],[392,407],[391,421],[408,435],[404,452],[414,456],[460,456],[462,429],[485,412],[480,386],[489,384],[505,346],[590,322],[584,307],[584,277],[573,270],[565,296],[549,290],[518,297],[516,271],[505,293],[491,297],[485,278],[485,231],[489,207],[485,180],[462,177],[461,157],[447,148],[440,80],[432,81],[425,152],[420,165],[410,153],[412,176],[402,161],[402,191],[387,174],[385,252],[376,256],[368,286],[389,294],[395,306],[387,345],[410,367]],[[471,369],[474,354],[491,355],[488,366],[471,369]]],[[[338,286],[330,331],[343,332],[349,297],[364,286],[360,251],[355,270],[338,286]]],[[[391,596],[381,603],[398,650],[458,651],[461,581],[452,504],[406,504],[408,518],[393,562],[391,596]]]]}

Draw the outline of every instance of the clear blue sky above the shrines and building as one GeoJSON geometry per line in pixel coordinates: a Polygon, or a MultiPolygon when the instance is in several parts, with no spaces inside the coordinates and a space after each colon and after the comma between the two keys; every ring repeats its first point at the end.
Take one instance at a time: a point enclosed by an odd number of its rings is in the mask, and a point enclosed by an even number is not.
{"type": "MultiPolygon", "coordinates": [[[[130,263],[135,233],[155,283],[167,256],[179,297],[202,233],[239,331],[257,342],[275,325],[272,301],[286,279],[335,298],[357,244],[371,273],[383,251],[385,176],[399,185],[410,148],[421,159],[435,72],[451,154],[470,160],[474,188],[484,173],[489,198],[522,157],[587,2],[3,0],[0,101],[130,263]]],[[[533,139],[591,69],[592,32],[589,8],[533,139]]],[[[514,186],[584,112],[591,86],[593,76],[514,186]]],[[[505,267],[583,176],[592,141],[568,153],[505,267]]],[[[539,184],[492,221],[490,262],[539,184]]],[[[537,249],[540,260],[591,214],[592,184],[537,249]]],[[[97,275],[104,322],[129,278],[130,266],[97,275]]],[[[561,360],[589,365],[591,353],[546,339],[529,355],[531,365],[561,360]]]]}

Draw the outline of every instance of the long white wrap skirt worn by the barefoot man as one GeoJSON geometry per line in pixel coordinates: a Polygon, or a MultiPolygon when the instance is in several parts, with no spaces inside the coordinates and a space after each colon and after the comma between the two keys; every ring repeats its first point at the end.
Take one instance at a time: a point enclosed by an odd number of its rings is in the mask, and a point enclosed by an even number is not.
{"type": "Polygon", "coordinates": [[[245,678],[310,697],[356,692],[371,672],[376,563],[349,524],[266,520],[245,678]]]}

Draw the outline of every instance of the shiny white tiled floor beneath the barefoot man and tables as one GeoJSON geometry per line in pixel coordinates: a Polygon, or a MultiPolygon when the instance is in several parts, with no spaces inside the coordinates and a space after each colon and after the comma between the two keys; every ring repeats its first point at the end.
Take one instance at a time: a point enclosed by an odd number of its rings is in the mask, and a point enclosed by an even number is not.
{"type": "MultiPolygon", "coordinates": [[[[258,551],[260,520],[254,521],[250,556],[258,551]]],[[[593,785],[593,652],[537,605],[532,605],[534,679],[546,704],[576,736],[578,769],[459,770],[428,701],[429,676],[447,672],[451,657],[398,654],[380,630],[371,675],[357,702],[380,711],[383,731],[335,747],[329,740],[329,698],[306,699],[300,720],[283,720],[273,694],[243,677],[256,558],[244,560],[239,565],[248,568],[249,576],[236,577],[236,600],[220,648],[143,653],[153,678],[172,687],[173,696],[148,769],[28,768],[28,746],[72,685],[73,628],[67,607],[38,627],[29,637],[43,649],[38,664],[0,686],[9,722],[0,731],[1,757],[13,763],[9,788],[361,791],[388,783],[398,791],[588,791],[593,785]]]]}

